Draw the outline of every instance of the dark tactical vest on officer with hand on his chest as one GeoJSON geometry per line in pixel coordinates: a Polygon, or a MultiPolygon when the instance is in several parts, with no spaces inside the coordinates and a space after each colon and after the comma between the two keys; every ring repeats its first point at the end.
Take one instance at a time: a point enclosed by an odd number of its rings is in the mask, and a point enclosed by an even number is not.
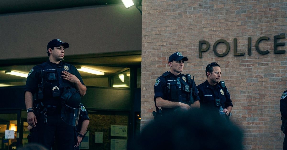
{"type": "Polygon", "coordinates": [[[61,104],[60,96],[64,89],[69,89],[73,87],[73,83],[63,79],[61,76],[62,71],[67,71],[72,73],[71,65],[63,63],[62,66],[57,66],[54,69],[49,63],[42,63],[40,66],[43,68],[42,79],[43,79],[43,103],[45,106],[59,106],[61,104]]]}

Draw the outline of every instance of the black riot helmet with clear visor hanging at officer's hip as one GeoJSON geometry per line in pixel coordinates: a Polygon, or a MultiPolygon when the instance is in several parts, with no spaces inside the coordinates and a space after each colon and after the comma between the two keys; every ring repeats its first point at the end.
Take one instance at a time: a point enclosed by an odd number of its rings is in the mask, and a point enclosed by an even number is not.
{"type": "Polygon", "coordinates": [[[69,124],[76,126],[79,121],[81,95],[75,88],[67,89],[61,95],[61,118],[69,124]]]}

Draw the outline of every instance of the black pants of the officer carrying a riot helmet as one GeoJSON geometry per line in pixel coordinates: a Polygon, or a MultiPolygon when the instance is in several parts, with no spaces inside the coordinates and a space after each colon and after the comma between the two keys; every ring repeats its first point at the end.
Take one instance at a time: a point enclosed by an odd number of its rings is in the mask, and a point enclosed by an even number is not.
{"type": "Polygon", "coordinates": [[[60,114],[47,115],[47,122],[44,123],[44,114],[37,118],[36,127],[38,128],[39,143],[47,149],[51,149],[56,142],[57,149],[74,149],[74,126],[68,125],[60,114]],[[39,119],[38,119],[39,118],[39,119]]]}

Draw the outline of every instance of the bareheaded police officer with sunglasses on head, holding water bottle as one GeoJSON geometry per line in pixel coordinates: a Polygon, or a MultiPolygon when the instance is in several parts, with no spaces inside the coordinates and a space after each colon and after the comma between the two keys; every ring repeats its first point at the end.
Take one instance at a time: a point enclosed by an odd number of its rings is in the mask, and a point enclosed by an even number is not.
{"type": "Polygon", "coordinates": [[[223,112],[229,115],[233,105],[224,81],[220,82],[221,69],[218,63],[208,64],[205,74],[207,80],[197,86],[201,107],[215,112],[219,112],[222,107],[223,112]]]}

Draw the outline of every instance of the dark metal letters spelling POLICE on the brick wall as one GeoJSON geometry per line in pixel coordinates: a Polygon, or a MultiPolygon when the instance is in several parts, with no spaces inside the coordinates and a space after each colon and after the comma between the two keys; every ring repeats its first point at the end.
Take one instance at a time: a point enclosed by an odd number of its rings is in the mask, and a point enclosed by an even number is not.
{"type": "MultiPolygon", "coordinates": [[[[285,43],[277,43],[277,39],[282,39],[282,38],[285,38],[285,35],[284,34],[280,34],[280,35],[274,35],[274,54],[282,54],[282,53],[285,53],[285,50],[277,50],[277,47],[278,46],[284,46],[285,43]]],[[[269,53],[268,50],[266,51],[261,51],[259,49],[259,42],[262,41],[262,40],[269,40],[269,37],[266,37],[266,36],[263,36],[263,37],[259,37],[259,39],[257,39],[256,43],[255,43],[255,49],[258,53],[260,54],[267,54],[269,53]]],[[[209,46],[210,44],[208,43],[208,41],[205,41],[205,40],[202,40],[202,41],[199,41],[199,58],[202,58],[202,52],[205,52],[209,49],[209,46]],[[206,47],[205,48],[202,48],[202,44],[205,44],[206,47]]],[[[223,57],[225,55],[227,55],[227,53],[229,52],[229,49],[230,49],[230,45],[229,43],[224,40],[224,39],[219,39],[217,40],[214,45],[213,45],[213,53],[218,56],[218,57],[223,57]],[[216,51],[216,46],[218,43],[224,43],[226,45],[226,51],[222,54],[219,54],[217,51],[216,51]]],[[[233,39],[233,49],[234,49],[234,56],[244,56],[245,53],[237,53],[237,39],[234,38],[233,39]]],[[[248,37],[248,55],[251,55],[251,37],[248,37]]]]}

